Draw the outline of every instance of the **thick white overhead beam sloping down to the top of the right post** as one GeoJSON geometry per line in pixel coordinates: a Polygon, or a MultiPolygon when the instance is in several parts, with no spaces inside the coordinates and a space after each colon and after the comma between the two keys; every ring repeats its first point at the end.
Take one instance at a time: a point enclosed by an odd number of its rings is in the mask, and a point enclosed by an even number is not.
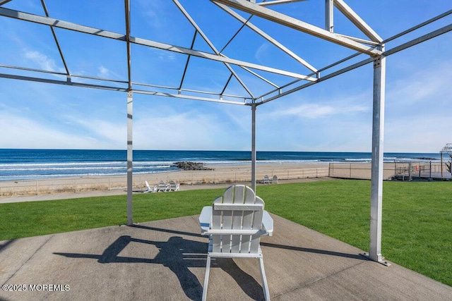
{"type": "Polygon", "coordinates": [[[378,56],[381,54],[381,51],[378,49],[374,49],[373,47],[369,47],[359,42],[355,42],[352,39],[347,39],[346,37],[336,35],[333,32],[323,30],[320,27],[316,27],[309,23],[305,23],[296,18],[292,18],[283,13],[273,11],[271,9],[259,6],[246,0],[210,0],[210,1],[218,2],[233,8],[237,8],[240,11],[251,13],[255,16],[259,16],[266,20],[270,20],[274,23],[285,25],[287,27],[299,30],[301,32],[306,32],[309,35],[314,35],[315,37],[325,39],[329,42],[333,42],[335,44],[339,44],[350,49],[355,49],[359,52],[362,52],[363,54],[369,54],[370,56],[378,56]]]}

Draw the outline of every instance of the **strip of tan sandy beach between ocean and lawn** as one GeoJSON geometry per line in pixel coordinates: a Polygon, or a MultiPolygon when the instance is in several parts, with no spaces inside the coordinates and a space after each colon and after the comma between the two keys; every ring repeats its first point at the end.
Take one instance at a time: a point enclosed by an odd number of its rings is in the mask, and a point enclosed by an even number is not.
{"type": "MultiPolygon", "coordinates": [[[[407,164],[385,164],[384,178],[406,170],[407,164]]],[[[174,180],[180,183],[181,190],[194,188],[210,188],[231,185],[232,183],[251,184],[251,164],[208,166],[213,170],[205,171],[174,171],[166,173],[147,173],[133,175],[133,191],[141,192],[145,183],[153,186],[160,180],[168,183],[174,180]],[[220,186],[219,186],[220,185],[220,186]]],[[[371,165],[363,163],[351,164],[257,164],[256,181],[259,183],[264,176],[273,179],[278,177],[278,183],[297,181],[309,178],[371,178],[371,165]]],[[[121,194],[126,191],[126,176],[82,176],[76,178],[52,178],[40,180],[16,180],[0,182],[0,198],[20,196],[41,196],[54,194],[69,194],[72,197],[86,192],[102,192],[102,194],[121,194]]],[[[54,197],[52,197],[54,198],[54,197]]]]}

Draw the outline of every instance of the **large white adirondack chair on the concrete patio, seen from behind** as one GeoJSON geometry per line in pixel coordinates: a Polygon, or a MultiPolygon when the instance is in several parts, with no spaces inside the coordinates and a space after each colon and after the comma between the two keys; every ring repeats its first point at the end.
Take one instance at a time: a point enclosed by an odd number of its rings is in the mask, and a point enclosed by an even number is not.
{"type": "Polygon", "coordinates": [[[263,200],[251,188],[234,185],[215,199],[212,207],[203,208],[199,216],[201,234],[209,235],[203,300],[207,297],[212,257],[259,259],[263,295],[270,300],[259,242],[261,235],[273,235],[273,219],[263,207],[263,200]]]}

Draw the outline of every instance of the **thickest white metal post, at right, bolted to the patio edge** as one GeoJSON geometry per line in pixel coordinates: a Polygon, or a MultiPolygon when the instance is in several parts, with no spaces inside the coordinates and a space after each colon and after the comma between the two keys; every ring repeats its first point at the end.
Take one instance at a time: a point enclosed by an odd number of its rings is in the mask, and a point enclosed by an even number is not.
{"type": "MultiPolygon", "coordinates": [[[[381,47],[381,51],[384,46],[381,47]]],[[[381,256],[381,212],[383,208],[383,136],[386,58],[374,59],[374,102],[372,120],[371,211],[369,258],[383,262],[381,256]]]]}

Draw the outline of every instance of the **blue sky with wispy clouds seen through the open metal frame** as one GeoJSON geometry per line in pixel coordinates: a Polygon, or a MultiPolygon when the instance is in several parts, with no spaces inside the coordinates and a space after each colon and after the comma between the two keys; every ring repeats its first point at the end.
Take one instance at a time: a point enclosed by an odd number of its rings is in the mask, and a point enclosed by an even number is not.
{"type": "MultiPolygon", "coordinates": [[[[222,49],[240,24],[206,0],[180,0],[216,48],[222,49]],[[202,3],[202,4],[201,4],[202,3]]],[[[285,4],[282,13],[323,27],[323,0],[285,4]]],[[[452,8],[450,0],[347,0],[383,39],[452,8]]],[[[46,1],[49,14],[73,23],[124,32],[123,1],[46,1]]],[[[13,0],[5,8],[44,16],[40,1],[13,0]]],[[[131,35],[189,48],[194,30],[172,1],[131,0],[131,35]]],[[[241,13],[247,18],[246,13],[241,13]]],[[[451,23],[439,20],[387,49],[451,23]]],[[[269,35],[316,68],[355,53],[282,26],[252,18],[269,35]]],[[[52,32],[44,25],[0,18],[0,64],[64,72],[52,32]]],[[[57,29],[71,73],[126,80],[124,43],[57,29]]],[[[335,32],[363,38],[335,11],[335,32]]],[[[194,49],[212,52],[201,37],[194,49]]],[[[177,86],[186,56],[132,46],[132,78],[136,82],[177,86]]],[[[266,40],[243,30],[228,45],[227,56],[308,74],[309,70],[281,54],[266,40]]],[[[386,73],[385,152],[439,152],[452,142],[452,34],[448,32],[388,56],[386,73]]],[[[359,60],[367,56],[359,56],[359,60]]],[[[234,70],[256,95],[271,87],[249,73],[234,70]]],[[[0,73],[33,76],[0,67],[0,73]]],[[[292,79],[262,72],[278,85],[292,79]]],[[[184,87],[222,90],[230,73],[217,62],[191,58],[184,87]]],[[[56,75],[44,75],[61,80],[56,75]]],[[[79,80],[93,83],[90,80],[79,80]]],[[[105,82],[97,81],[103,85],[105,82]]],[[[258,150],[370,152],[373,68],[369,64],[276,99],[257,109],[258,150]]],[[[244,94],[237,81],[227,87],[244,94]]],[[[126,94],[40,82],[0,78],[0,148],[125,149],[126,94]]],[[[249,106],[188,99],[133,96],[135,149],[251,149],[249,106]]]]}

